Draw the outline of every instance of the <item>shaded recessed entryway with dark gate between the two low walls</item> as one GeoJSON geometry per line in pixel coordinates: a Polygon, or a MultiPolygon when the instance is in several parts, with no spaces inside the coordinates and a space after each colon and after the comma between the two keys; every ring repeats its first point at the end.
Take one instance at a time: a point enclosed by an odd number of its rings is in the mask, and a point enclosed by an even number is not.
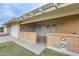
{"type": "Polygon", "coordinates": [[[57,33],[56,20],[37,22],[35,32],[37,33],[37,43],[47,45],[47,33],[57,33]]]}

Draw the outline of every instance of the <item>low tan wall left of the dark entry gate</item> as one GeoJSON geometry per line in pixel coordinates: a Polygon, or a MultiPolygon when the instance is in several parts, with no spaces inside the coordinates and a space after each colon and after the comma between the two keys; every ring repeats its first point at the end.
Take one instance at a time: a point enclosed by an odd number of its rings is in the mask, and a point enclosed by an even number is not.
{"type": "Polygon", "coordinates": [[[20,38],[33,44],[36,44],[37,42],[36,32],[20,32],[20,38]]]}

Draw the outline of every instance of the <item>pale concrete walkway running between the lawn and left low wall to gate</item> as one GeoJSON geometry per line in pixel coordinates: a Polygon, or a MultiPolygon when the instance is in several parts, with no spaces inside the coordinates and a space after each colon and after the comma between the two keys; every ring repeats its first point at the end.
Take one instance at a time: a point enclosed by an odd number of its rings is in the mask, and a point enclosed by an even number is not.
{"type": "Polygon", "coordinates": [[[35,54],[40,54],[46,48],[46,46],[44,44],[33,45],[32,43],[25,42],[21,39],[17,39],[17,38],[10,37],[10,36],[4,36],[2,38],[0,37],[0,39],[7,40],[7,41],[13,41],[16,44],[19,44],[20,46],[34,52],[35,54]]]}

